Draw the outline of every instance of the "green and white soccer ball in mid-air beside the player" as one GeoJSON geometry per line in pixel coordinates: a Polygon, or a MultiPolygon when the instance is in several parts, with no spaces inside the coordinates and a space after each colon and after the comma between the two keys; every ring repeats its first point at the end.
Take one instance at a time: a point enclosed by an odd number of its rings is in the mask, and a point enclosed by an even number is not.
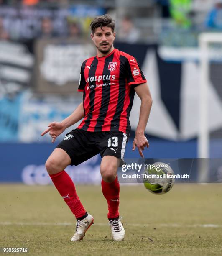
{"type": "Polygon", "coordinates": [[[174,172],[168,164],[156,162],[148,164],[143,174],[143,184],[148,191],[161,195],[170,191],[174,185],[174,172]]]}

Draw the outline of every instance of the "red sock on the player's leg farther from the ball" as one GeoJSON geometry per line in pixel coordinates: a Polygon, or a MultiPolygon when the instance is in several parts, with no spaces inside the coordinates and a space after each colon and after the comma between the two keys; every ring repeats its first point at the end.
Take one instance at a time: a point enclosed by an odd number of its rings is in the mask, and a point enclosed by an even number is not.
{"type": "Polygon", "coordinates": [[[86,213],[86,210],[79,200],[75,185],[69,175],[65,171],[61,171],[49,176],[76,218],[82,217],[86,213]]]}

